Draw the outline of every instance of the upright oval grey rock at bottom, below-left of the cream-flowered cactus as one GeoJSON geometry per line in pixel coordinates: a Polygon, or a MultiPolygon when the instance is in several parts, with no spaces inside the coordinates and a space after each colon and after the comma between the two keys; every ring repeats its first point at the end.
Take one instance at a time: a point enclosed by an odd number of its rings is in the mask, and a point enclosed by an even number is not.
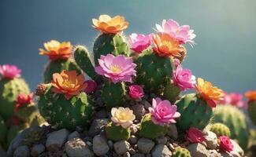
{"type": "Polygon", "coordinates": [[[100,135],[96,135],[93,138],[92,149],[96,155],[101,156],[109,152],[109,145],[105,138],[100,135]]]}

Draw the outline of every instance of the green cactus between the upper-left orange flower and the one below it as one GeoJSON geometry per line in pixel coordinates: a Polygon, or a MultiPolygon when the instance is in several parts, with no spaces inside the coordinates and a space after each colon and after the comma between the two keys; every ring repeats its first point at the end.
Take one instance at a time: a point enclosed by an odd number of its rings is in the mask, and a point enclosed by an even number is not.
{"type": "Polygon", "coordinates": [[[69,60],[54,60],[51,61],[47,66],[45,71],[43,72],[44,82],[50,83],[53,80],[53,74],[58,72],[61,73],[61,71],[73,71],[75,70],[77,74],[81,74],[82,71],[80,68],[76,65],[76,62],[74,62],[72,59],[69,60]]]}

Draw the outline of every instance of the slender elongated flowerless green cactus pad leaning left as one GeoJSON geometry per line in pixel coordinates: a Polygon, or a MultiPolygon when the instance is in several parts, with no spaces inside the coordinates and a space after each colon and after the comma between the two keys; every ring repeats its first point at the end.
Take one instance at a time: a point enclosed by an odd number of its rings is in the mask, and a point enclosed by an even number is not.
{"type": "Polygon", "coordinates": [[[95,67],[91,62],[90,53],[84,46],[76,46],[75,50],[76,64],[86,73],[91,79],[95,78],[95,67]]]}

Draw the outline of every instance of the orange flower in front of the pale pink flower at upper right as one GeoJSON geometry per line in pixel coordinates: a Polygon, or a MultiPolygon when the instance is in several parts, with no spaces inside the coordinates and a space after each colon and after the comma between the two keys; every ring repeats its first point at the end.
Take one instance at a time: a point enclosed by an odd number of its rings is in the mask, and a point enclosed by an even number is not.
{"type": "Polygon", "coordinates": [[[172,38],[169,34],[158,33],[153,36],[154,52],[160,57],[182,57],[185,49],[180,46],[179,41],[172,38]]]}

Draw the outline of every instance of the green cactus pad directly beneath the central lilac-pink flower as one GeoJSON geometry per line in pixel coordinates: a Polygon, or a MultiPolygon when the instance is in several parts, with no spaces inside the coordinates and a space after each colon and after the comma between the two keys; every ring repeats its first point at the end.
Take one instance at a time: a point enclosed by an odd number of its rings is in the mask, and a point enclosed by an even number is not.
{"type": "Polygon", "coordinates": [[[124,83],[116,83],[105,81],[102,85],[102,102],[106,104],[106,108],[120,107],[125,102],[125,87],[124,83]]]}

